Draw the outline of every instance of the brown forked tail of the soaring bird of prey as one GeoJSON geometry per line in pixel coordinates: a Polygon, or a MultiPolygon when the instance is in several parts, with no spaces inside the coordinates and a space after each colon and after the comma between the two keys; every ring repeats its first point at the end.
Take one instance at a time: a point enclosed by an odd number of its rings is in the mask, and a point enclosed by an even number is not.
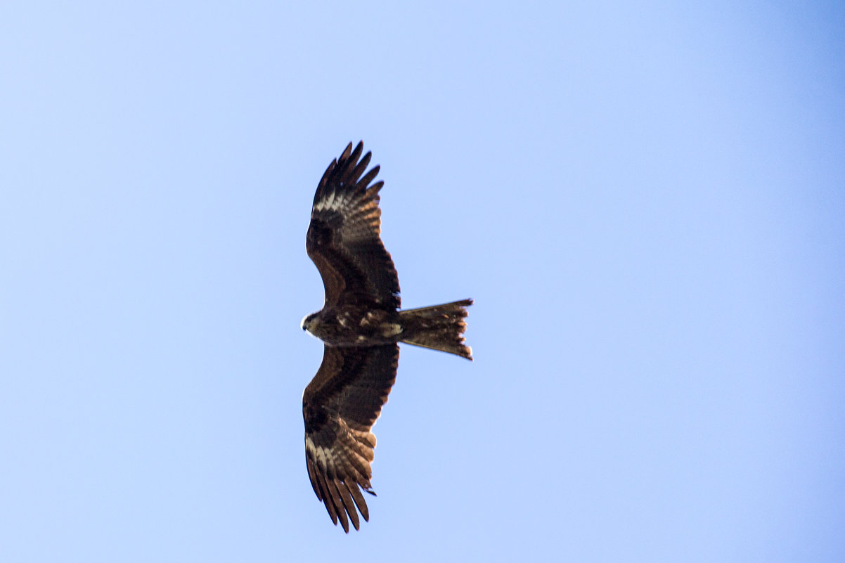
{"type": "Polygon", "coordinates": [[[400,342],[448,352],[472,360],[472,348],[464,343],[466,308],[472,299],[406,309],[399,312],[403,334],[400,342]]]}

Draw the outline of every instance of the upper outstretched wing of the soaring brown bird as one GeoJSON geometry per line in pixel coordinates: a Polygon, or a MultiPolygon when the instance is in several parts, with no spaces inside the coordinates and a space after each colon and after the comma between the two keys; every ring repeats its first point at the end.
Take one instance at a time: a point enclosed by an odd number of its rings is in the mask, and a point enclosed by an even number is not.
{"type": "Polygon", "coordinates": [[[326,168],[311,208],[305,248],[323,277],[326,304],[378,303],[398,309],[399,278],[379,238],[379,189],[370,182],[379,167],[364,174],[371,153],[363,143],[346,146],[326,168]]]}

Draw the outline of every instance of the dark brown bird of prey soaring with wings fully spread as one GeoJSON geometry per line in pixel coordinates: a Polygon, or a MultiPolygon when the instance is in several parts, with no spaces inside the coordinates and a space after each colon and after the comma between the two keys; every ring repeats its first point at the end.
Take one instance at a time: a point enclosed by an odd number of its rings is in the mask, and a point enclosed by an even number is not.
{"type": "Polygon", "coordinates": [[[396,380],[398,342],[472,360],[464,343],[472,299],[400,308],[399,279],[379,238],[379,173],[366,174],[371,154],[346,146],[314,194],[306,249],[323,278],[323,309],[303,319],[303,331],[324,342],[323,363],[303,393],[308,478],[332,522],[349,533],[358,511],[369,520],[373,424],[396,380]],[[357,506],[357,510],[356,510],[357,506]]]}

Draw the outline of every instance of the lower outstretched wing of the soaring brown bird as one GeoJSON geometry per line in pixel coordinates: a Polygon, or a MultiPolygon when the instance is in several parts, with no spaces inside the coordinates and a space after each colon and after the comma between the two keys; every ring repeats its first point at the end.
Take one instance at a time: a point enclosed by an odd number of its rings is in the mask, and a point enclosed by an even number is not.
{"type": "Polygon", "coordinates": [[[369,520],[361,489],[375,495],[372,428],[396,380],[399,346],[329,347],[303,393],[308,478],[331,521],[358,529],[369,520]],[[354,504],[353,504],[354,502],[354,504]],[[357,511],[356,507],[357,506],[357,511]],[[347,518],[348,515],[348,518],[347,518]]]}

